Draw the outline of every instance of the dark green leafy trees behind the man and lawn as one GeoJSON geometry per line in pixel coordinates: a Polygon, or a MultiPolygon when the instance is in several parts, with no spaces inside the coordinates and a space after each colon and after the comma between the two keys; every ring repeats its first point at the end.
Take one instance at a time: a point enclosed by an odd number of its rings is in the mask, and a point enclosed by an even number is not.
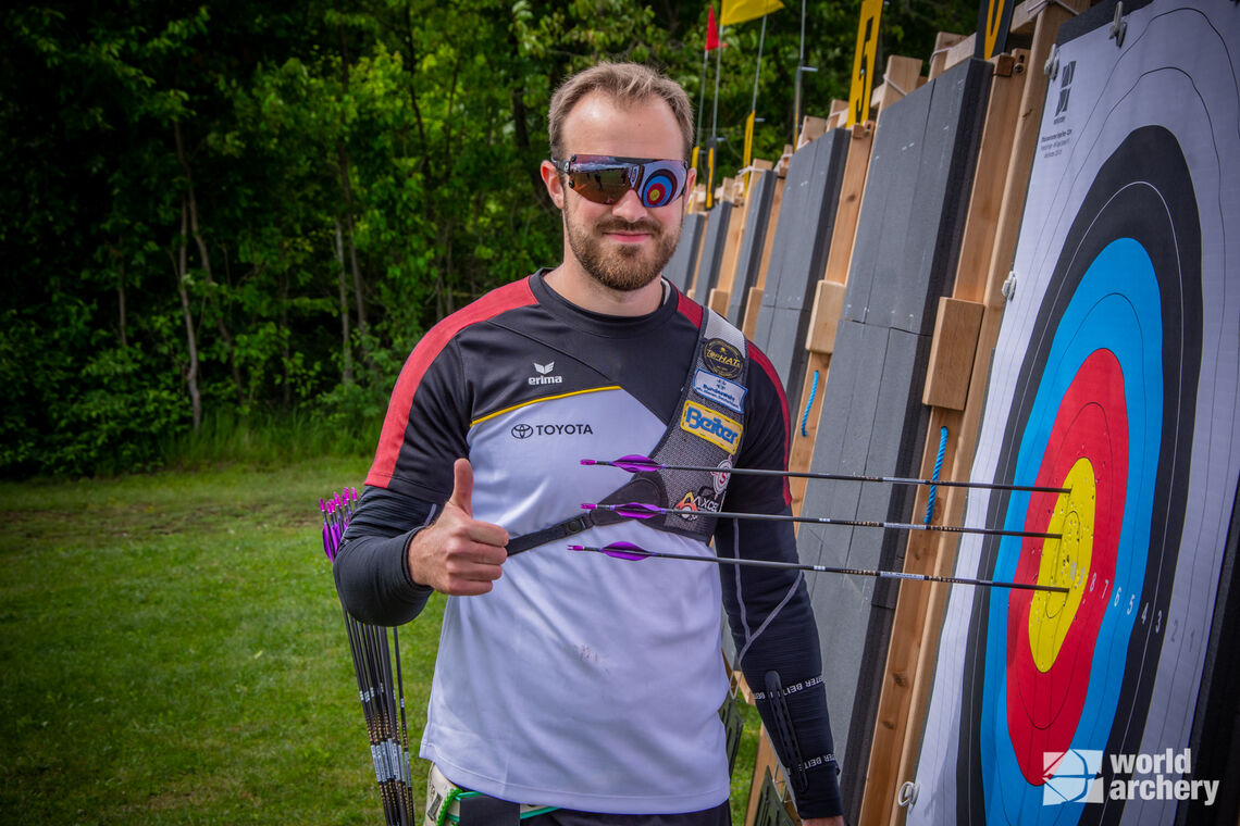
{"type": "MultiPolygon", "coordinates": [[[[847,97],[858,6],[808,4],[818,72],[804,111],[847,97]]],[[[967,1],[892,6],[884,46],[919,57],[976,15],[967,1]]],[[[558,261],[537,172],[557,83],[634,59],[703,97],[706,2],[129,0],[0,15],[10,477],[156,467],[169,440],[224,412],[373,437],[423,332],[558,261]]],[[[800,31],[795,7],[769,17],[759,157],[792,135],[800,31]]],[[[740,166],[759,35],[759,21],[724,31],[723,170],[740,166]]]]}

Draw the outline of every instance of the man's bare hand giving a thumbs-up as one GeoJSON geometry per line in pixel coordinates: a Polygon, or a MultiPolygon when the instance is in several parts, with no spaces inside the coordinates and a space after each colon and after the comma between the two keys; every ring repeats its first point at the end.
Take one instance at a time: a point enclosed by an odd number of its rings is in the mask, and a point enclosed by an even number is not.
{"type": "Polygon", "coordinates": [[[409,540],[405,561],[414,582],[440,593],[472,597],[487,593],[508,559],[508,531],[474,519],[474,468],[453,464],[453,495],[430,526],[409,540]]]}

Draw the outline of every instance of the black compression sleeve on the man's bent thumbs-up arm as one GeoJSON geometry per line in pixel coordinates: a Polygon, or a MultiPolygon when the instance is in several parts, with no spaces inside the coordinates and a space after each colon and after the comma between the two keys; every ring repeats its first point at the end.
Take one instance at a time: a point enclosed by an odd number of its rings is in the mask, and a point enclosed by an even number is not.
{"type": "Polygon", "coordinates": [[[405,549],[434,510],[384,488],[362,492],[332,566],[345,611],[372,625],[399,625],[422,613],[432,589],[409,578],[405,549]]]}

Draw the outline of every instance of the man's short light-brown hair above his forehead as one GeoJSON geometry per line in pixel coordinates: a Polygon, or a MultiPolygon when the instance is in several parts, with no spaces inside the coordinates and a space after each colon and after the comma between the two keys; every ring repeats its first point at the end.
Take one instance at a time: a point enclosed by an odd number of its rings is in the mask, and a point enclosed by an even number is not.
{"type": "Polygon", "coordinates": [[[573,107],[591,92],[601,92],[625,105],[657,98],[667,103],[684,139],[684,159],[693,150],[693,104],[681,84],[641,63],[599,63],[565,79],[551,98],[547,134],[551,156],[563,160],[564,121],[573,107]]]}

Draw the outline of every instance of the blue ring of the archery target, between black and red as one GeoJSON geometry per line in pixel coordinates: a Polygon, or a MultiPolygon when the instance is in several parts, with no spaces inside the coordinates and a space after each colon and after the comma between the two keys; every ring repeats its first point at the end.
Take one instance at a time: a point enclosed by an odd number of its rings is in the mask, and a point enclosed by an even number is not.
{"type": "MultiPolygon", "coordinates": [[[[1076,376],[1085,359],[1099,349],[1116,357],[1123,372],[1123,395],[1128,419],[1128,472],[1123,505],[1122,529],[1116,551],[1115,582],[1111,594],[1118,593],[1116,607],[1109,602],[1090,665],[1090,684],[1081,711],[1081,724],[1073,737],[1074,749],[1104,749],[1120,696],[1120,681],[1112,675],[1123,672],[1128,637],[1136,612],[1128,612],[1128,596],[1141,593],[1146,576],[1145,551],[1149,541],[1148,514],[1153,502],[1153,476],[1158,464],[1162,431],[1162,311],[1158,281],[1145,248],[1136,240],[1120,239],[1107,245],[1094,260],[1073,295],[1050,346],[1043,380],[1038,385],[1021,447],[1017,453],[1016,478],[1034,479],[1045,461],[1050,428],[1059,412],[1068,385],[1076,376]],[[1122,285],[1122,292],[1116,285],[1122,285]],[[1090,726],[1092,723],[1092,726],[1090,726]]],[[[1060,480],[1056,480],[1058,484],[1060,480]]],[[[1022,530],[1029,509],[1030,494],[1013,494],[1008,500],[1004,526],[1022,530]]],[[[1016,576],[1021,540],[1001,540],[994,568],[996,578],[1011,581],[1016,576]]],[[[1097,583],[1097,587],[1102,587],[1097,583]]],[[[985,697],[982,706],[983,776],[993,773],[996,786],[1004,795],[993,796],[987,809],[990,817],[1002,822],[1006,793],[1014,791],[1003,778],[1021,776],[1012,743],[1007,737],[1007,593],[991,598],[986,640],[985,697]],[[985,739],[991,738],[990,748],[985,739]],[[985,755],[993,759],[992,772],[985,769],[985,755]]],[[[1110,596],[1109,596],[1110,599],[1110,596]]],[[[1028,788],[1019,804],[1022,822],[1030,811],[1042,811],[1043,790],[1028,788]]],[[[1068,804],[1084,807],[1084,802],[1068,804]]],[[[1011,812],[1008,812],[1011,814],[1011,812]]],[[[1047,807],[1043,822],[1063,822],[1064,806],[1047,807]]]]}

